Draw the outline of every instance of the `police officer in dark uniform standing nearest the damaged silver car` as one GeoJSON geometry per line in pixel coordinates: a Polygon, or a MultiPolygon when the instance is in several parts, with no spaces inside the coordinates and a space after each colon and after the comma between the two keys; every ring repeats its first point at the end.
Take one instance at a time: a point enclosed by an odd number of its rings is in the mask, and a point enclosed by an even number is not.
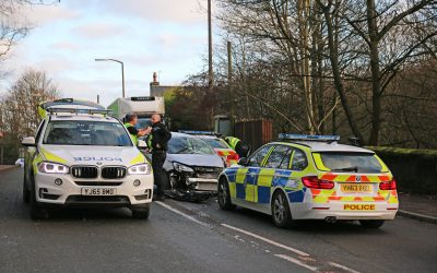
{"type": "Polygon", "coordinates": [[[155,200],[164,200],[164,191],[168,188],[167,175],[164,170],[164,162],[167,157],[167,142],[172,133],[161,120],[161,115],[154,114],[151,118],[152,127],[146,129],[147,146],[152,153],[153,178],[156,185],[155,200]]]}

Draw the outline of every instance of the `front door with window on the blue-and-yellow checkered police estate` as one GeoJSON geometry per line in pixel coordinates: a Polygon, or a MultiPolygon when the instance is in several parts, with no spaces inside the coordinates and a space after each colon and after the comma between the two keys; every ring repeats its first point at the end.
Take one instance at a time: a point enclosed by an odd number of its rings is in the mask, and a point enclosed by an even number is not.
{"type": "Polygon", "coordinates": [[[265,156],[273,150],[273,145],[267,144],[258,149],[249,158],[246,166],[236,174],[236,198],[241,201],[255,202],[255,188],[258,174],[264,163],[265,156]]]}

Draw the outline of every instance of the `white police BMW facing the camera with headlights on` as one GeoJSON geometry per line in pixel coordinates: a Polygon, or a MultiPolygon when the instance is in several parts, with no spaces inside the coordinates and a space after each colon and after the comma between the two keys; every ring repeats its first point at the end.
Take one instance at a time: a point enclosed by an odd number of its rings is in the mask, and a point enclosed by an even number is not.
{"type": "Polygon", "coordinates": [[[151,166],[123,124],[102,108],[74,99],[40,105],[36,136],[22,142],[23,201],[33,218],[47,217],[51,206],[126,206],[133,217],[149,217],[151,166]]]}

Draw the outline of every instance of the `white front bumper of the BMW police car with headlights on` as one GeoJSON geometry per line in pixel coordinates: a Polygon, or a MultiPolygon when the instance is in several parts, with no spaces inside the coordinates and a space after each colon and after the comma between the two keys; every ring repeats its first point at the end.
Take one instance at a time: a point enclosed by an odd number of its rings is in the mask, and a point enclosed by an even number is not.
{"type": "Polygon", "coordinates": [[[45,174],[35,175],[36,201],[45,204],[64,206],[110,206],[110,207],[135,207],[152,202],[153,175],[127,175],[122,179],[79,179],[71,175],[45,174]],[[62,183],[57,186],[56,179],[62,183]],[[141,185],[133,186],[134,180],[141,185]],[[97,186],[99,182],[105,186],[97,186]],[[116,185],[111,186],[110,183],[116,185]],[[81,186],[81,185],[90,186],[81,186]],[[83,188],[114,189],[114,195],[83,195],[83,188]]]}

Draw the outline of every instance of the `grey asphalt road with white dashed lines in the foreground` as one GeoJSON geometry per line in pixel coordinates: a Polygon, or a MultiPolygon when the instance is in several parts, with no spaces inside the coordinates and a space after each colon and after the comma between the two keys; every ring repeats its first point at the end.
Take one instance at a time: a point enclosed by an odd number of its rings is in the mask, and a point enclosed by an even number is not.
{"type": "Polygon", "coordinates": [[[397,217],[376,230],[295,229],[237,209],[166,200],[129,210],[63,210],[32,221],[22,171],[0,174],[0,272],[437,272],[437,225],[397,217]]]}

